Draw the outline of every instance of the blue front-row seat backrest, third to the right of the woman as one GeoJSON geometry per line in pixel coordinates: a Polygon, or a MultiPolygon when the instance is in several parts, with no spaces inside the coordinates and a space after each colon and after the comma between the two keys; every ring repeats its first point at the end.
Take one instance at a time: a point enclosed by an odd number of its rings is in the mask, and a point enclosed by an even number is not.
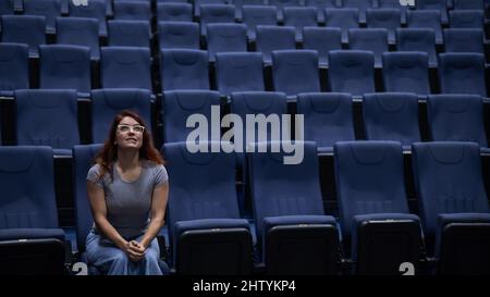
{"type": "Polygon", "coordinates": [[[354,215],[408,213],[400,143],[336,143],[333,160],[344,236],[352,234],[354,215]]]}

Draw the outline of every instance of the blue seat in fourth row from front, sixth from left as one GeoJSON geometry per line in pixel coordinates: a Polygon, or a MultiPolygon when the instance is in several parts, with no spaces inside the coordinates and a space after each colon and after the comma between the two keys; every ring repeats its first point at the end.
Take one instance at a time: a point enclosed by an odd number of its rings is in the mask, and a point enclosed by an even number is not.
{"type": "Polygon", "coordinates": [[[272,63],[272,51],[294,50],[296,48],[294,28],[290,26],[257,26],[257,51],[266,64],[272,63]]]}

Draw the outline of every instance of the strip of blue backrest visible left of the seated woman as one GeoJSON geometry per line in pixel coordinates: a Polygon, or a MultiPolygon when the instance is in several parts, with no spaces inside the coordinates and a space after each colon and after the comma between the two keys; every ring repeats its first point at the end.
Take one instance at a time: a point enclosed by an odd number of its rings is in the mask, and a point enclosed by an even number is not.
{"type": "Polygon", "coordinates": [[[94,219],[87,194],[87,172],[94,164],[102,145],[85,145],[73,147],[73,195],[75,200],[76,246],[78,252],[85,251],[85,239],[94,219]]]}

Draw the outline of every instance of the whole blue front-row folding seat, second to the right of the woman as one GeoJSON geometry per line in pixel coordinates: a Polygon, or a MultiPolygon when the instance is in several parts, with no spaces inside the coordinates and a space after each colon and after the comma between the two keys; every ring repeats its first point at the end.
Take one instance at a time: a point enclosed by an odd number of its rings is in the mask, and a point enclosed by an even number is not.
{"type": "Polygon", "coordinates": [[[273,152],[285,143],[259,143],[250,152],[250,187],[257,240],[268,274],[335,274],[339,235],[335,219],[326,215],[315,143],[299,143],[303,160],[273,152]],[[266,152],[261,152],[266,151],[266,152]]]}

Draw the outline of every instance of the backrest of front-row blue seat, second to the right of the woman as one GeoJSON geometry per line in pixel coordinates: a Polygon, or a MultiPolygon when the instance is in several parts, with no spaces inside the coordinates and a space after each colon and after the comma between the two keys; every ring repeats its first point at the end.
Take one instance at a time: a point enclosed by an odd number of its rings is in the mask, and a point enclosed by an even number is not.
{"type": "Polygon", "coordinates": [[[298,164],[284,164],[284,157],[289,153],[272,152],[272,145],[280,144],[258,143],[255,144],[255,152],[248,153],[252,199],[259,242],[262,239],[265,218],[324,214],[316,144],[301,143],[304,156],[298,164]]]}

